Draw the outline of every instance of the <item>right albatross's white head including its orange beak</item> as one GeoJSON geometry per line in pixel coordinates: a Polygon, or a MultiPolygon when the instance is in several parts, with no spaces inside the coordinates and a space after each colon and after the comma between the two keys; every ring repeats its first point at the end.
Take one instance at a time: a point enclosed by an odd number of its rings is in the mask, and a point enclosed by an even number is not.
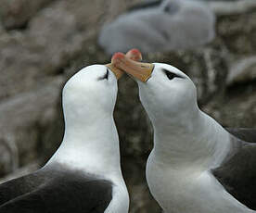
{"type": "Polygon", "coordinates": [[[181,70],[162,63],[138,63],[122,54],[113,63],[137,81],[153,125],[183,125],[198,112],[196,86],[181,70]]]}

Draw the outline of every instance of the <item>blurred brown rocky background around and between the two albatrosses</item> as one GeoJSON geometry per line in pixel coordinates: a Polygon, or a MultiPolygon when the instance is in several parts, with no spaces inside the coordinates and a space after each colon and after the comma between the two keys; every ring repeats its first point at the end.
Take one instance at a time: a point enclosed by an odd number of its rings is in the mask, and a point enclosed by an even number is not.
{"type": "MultiPolygon", "coordinates": [[[[84,66],[109,62],[96,44],[101,26],[140,1],[1,0],[2,182],[38,169],[55,152],[63,135],[63,84],[84,66]]],[[[241,8],[214,7],[211,44],[144,59],[186,72],[198,86],[201,109],[222,125],[256,128],[256,6],[241,8]]],[[[130,212],[160,212],[145,181],[152,129],[137,93],[134,81],[123,77],[115,120],[130,212]]]]}

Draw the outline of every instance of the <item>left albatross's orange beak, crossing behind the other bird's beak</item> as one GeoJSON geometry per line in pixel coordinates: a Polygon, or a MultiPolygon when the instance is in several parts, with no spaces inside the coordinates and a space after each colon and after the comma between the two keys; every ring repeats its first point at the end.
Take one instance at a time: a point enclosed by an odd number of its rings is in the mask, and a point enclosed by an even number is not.
{"type": "MultiPolygon", "coordinates": [[[[126,55],[127,58],[129,58],[132,61],[141,61],[142,60],[142,55],[141,53],[137,50],[137,49],[131,49],[129,50],[126,55]]],[[[111,63],[105,65],[107,66],[116,76],[117,80],[119,80],[122,75],[123,75],[123,71],[119,68],[117,68],[114,64],[113,64],[113,57],[111,59],[111,63]]]]}

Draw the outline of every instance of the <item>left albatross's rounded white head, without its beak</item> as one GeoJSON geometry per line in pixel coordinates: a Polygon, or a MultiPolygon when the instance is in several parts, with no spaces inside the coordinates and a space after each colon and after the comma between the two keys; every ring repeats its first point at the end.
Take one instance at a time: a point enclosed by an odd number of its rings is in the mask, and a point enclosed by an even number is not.
{"type": "Polygon", "coordinates": [[[116,96],[117,79],[104,65],[92,65],[77,72],[63,89],[63,110],[66,124],[85,122],[112,116],[116,96]],[[78,122],[77,122],[78,121],[78,122]]]}

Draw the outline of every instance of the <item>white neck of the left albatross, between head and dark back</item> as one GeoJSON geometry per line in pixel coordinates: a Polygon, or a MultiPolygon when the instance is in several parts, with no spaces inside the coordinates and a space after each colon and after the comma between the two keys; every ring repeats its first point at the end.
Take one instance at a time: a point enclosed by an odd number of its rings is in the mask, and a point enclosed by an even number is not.
{"type": "Polygon", "coordinates": [[[104,176],[122,176],[119,138],[112,116],[100,117],[85,127],[81,122],[83,119],[66,120],[62,144],[48,163],[63,163],[104,176]]]}

